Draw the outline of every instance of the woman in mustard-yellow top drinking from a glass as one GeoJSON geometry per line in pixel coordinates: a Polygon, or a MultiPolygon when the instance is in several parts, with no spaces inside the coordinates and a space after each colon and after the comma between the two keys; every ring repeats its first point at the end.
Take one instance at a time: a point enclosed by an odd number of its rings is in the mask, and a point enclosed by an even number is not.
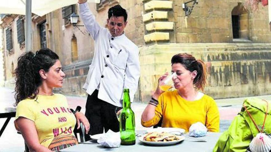
{"type": "MultiPolygon", "coordinates": [[[[176,54],[171,59],[174,91],[162,91],[159,85],[141,116],[144,127],[156,125],[162,118],[162,127],[178,127],[189,131],[196,122],[208,131],[219,132],[219,112],[212,97],[203,91],[206,84],[206,66],[190,54],[176,54]]],[[[159,78],[163,81],[168,73],[159,78]]],[[[159,84],[159,83],[158,83],[159,84]]]]}

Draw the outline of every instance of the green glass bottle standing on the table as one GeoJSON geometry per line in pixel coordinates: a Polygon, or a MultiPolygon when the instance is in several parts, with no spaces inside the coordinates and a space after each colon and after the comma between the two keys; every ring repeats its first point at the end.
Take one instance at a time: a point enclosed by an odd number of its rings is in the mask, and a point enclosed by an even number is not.
{"type": "Polygon", "coordinates": [[[129,89],[123,89],[123,109],[119,115],[119,130],[121,145],[134,145],[136,143],[135,114],[131,109],[129,89]]]}

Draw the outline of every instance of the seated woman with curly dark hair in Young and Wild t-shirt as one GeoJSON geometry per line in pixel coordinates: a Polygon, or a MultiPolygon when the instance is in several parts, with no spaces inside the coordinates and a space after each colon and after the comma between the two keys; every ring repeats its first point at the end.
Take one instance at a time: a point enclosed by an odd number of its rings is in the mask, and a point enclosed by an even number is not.
{"type": "Polygon", "coordinates": [[[77,144],[73,133],[76,122],[89,131],[84,114],[71,112],[66,97],[53,93],[53,88],[62,87],[65,77],[56,53],[47,48],[36,54],[26,52],[18,58],[14,74],[14,123],[30,151],[57,152],[77,144]]]}

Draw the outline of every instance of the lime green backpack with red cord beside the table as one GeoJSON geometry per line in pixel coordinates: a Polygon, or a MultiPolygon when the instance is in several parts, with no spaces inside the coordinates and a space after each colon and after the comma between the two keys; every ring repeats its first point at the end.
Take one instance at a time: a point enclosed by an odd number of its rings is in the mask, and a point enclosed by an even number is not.
{"type": "MultiPolygon", "coordinates": [[[[268,102],[268,111],[263,130],[267,134],[271,134],[271,102],[265,101],[258,98],[248,98],[245,99],[243,105],[252,115],[258,128],[261,129],[268,102]]],[[[233,119],[229,129],[221,134],[213,152],[245,152],[252,138],[258,133],[259,131],[249,117],[248,112],[242,107],[241,112],[233,119]]]]}

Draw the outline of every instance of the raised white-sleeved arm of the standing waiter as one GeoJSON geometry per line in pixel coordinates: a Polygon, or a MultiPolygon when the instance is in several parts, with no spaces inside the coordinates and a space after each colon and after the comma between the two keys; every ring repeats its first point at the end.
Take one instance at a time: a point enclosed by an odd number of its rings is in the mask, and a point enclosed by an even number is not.
{"type": "Polygon", "coordinates": [[[95,20],[95,16],[92,14],[88,7],[87,0],[78,0],[79,3],[79,16],[83,21],[87,31],[91,37],[96,40],[99,34],[99,30],[102,28],[95,20]]]}

